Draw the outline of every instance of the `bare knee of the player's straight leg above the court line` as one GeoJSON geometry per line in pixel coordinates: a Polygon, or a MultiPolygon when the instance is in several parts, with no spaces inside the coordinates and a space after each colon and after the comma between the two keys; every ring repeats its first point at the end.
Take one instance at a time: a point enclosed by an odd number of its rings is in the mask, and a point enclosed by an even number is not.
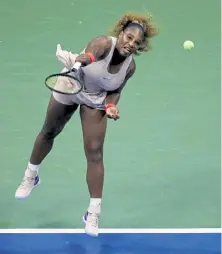
{"type": "Polygon", "coordinates": [[[86,158],[88,162],[99,163],[103,159],[102,144],[98,141],[88,142],[85,145],[86,158]]]}

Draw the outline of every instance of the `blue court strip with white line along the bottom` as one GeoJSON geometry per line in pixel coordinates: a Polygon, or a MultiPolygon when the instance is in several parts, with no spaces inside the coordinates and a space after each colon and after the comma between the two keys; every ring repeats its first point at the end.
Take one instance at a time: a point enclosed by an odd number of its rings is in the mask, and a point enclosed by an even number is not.
{"type": "Polygon", "coordinates": [[[5,230],[1,254],[219,254],[220,229],[5,230]]]}

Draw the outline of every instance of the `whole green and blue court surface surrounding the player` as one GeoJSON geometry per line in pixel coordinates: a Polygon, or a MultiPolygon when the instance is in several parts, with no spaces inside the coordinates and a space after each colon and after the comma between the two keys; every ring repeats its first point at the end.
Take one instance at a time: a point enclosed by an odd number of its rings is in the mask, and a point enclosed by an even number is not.
{"type": "Polygon", "coordinates": [[[219,253],[220,10],[219,0],[1,0],[1,254],[219,253]],[[136,57],[121,119],[109,121],[100,226],[169,231],[112,231],[96,240],[77,234],[89,202],[78,113],[42,164],[41,186],[22,202],[14,193],[45,117],[44,78],[62,69],[56,45],[78,53],[129,11],[151,12],[160,34],[150,53],[136,57]],[[194,41],[194,50],[183,50],[185,40],[194,41]],[[4,234],[14,229],[42,233],[4,234]]]}

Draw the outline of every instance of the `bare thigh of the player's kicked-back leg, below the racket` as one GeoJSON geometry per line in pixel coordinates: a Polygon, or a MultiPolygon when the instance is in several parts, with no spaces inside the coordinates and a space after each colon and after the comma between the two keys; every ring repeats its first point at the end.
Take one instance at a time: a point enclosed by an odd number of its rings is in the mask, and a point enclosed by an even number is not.
{"type": "Polygon", "coordinates": [[[67,105],[60,103],[52,95],[48,104],[42,131],[52,134],[60,132],[77,108],[77,104],[67,105]]]}

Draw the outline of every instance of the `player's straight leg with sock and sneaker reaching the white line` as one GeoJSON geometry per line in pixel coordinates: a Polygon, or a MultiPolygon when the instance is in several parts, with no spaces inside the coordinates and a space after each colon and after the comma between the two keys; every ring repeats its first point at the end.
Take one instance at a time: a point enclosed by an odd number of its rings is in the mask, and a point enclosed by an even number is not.
{"type": "Polygon", "coordinates": [[[104,111],[91,109],[85,105],[80,108],[80,116],[87,159],[86,181],[90,193],[89,208],[84,216],[85,231],[97,236],[104,180],[103,143],[107,117],[104,111]]]}

